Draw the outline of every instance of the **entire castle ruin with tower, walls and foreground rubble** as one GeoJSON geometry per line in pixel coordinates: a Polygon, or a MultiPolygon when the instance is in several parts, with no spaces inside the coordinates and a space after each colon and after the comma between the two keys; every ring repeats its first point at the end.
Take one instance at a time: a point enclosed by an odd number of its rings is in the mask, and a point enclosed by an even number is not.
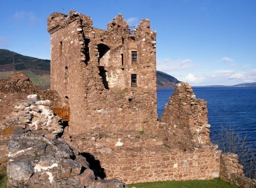
{"type": "Polygon", "coordinates": [[[0,167],[8,159],[10,186],[124,187],[121,181],[220,177],[255,187],[237,155],[211,143],[207,103],[187,83],[176,85],[158,120],[156,32],[149,20],[131,28],[119,14],[102,30],[71,10],[52,13],[48,32],[51,90],[21,72],[0,82],[0,167]],[[70,108],[64,131],[56,107],[70,108]]]}

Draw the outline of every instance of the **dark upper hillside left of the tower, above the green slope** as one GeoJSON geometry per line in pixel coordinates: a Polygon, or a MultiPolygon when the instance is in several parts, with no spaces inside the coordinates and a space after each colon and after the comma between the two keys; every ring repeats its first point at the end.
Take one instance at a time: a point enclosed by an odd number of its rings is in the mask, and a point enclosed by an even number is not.
{"type": "Polygon", "coordinates": [[[36,74],[50,74],[50,60],[42,60],[0,49],[0,72],[27,70],[36,74]]]}

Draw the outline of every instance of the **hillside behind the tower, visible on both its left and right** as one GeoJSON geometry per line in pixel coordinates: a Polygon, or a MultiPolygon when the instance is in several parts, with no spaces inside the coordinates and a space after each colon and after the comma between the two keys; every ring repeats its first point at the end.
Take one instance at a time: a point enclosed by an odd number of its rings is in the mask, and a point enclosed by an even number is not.
{"type": "MultiPolygon", "coordinates": [[[[0,79],[4,79],[14,71],[22,70],[33,84],[49,88],[50,60],[42,60],[23,56],[16,52],[0,49],[0,79]]],[[[175,88],[180,81],[161,71],[156,71],[157,88],[175,88]]]]}

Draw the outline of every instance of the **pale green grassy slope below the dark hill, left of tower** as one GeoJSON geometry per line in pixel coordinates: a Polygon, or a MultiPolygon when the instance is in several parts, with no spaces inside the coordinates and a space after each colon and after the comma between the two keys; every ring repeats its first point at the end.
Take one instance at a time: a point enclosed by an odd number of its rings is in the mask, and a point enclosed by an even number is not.
{"type": "MultiPolygon", "coordinates": [[[[22,71],[22,72],[24,72],[30,78],[30,80],[34,85],[38,85],[38,86],[50,85],[50,75],[48,74],[38,75],[30,71],[22,71]]],[[[8,76],[10,76],[12,73],[13,71],[0,72],[0,79],[5,79],[8,76]]]]}

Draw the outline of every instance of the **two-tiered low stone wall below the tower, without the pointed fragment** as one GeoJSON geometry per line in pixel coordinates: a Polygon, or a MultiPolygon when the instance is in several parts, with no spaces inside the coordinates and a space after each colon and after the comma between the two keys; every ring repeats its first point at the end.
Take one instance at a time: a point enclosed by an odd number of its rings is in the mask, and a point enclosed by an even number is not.
{"type": "Polygon", "coordinates": [[[203,145],[184,151],[177,146],[171,148],[162,139],[138,131],[74,136],[64,134],[62,138],[94,163],[91,168],[101,174],[100,177],[106,176],[107,179],[118,178],[132,183],[212,179],[219,175],[221,152],[216,145],[203,145]]]}

